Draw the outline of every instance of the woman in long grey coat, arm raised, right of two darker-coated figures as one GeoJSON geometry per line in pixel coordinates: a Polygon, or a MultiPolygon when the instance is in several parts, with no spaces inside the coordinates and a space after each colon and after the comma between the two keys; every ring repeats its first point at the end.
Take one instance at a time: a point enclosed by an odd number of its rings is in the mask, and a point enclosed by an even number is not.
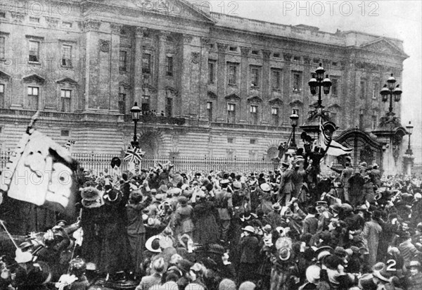
{"type": "Polygon", "coordinates": [[[151,196],[142,201],[141,191],[134,190],[129,195],[129,203],[126,205],[127,212],[127,237],[129,239],[129,254],[134,265],[135,275],[141,272],[143,260],[143,245],[145,244],[146,229],[143,225],[142,210],[151,202],[151,196]]]}

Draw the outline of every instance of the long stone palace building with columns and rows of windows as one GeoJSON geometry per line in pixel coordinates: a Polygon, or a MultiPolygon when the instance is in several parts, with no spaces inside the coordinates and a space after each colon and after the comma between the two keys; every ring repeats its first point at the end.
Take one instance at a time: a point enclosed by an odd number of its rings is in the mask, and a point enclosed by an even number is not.
{"type": "Polygon", "coordinates": [[[333,83],[322,103],[336,134],[371,132],[388,111],[379,92],[391,73],[401,82],[408,57],[399,39],[182,0],[6,2],[0,26],[2,151],[15,148],[39,110],[38,129],[75,141],[73,152],[120,154],[133,139],[137,102],[146,156],[273,158],[293,109],[302,124],[316,103],[307,82],[319,63],[333,83]]]}

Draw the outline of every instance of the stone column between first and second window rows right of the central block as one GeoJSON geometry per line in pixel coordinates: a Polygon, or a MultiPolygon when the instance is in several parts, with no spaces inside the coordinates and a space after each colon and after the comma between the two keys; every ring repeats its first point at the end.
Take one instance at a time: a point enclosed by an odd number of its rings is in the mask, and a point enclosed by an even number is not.
{"type": "Polygon", "coordinates": [[[217,122],[224,122],[226,115],[226,49],[227,44],[217,42],[218,63],[217,63],[217,122]]]}

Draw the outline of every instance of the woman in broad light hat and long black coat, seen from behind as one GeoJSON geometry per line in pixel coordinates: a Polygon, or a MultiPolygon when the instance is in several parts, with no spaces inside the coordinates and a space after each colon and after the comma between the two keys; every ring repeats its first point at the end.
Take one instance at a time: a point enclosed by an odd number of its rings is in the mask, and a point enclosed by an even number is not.
{"type": "Polygon", "coordinates": [[[98,265],[103,235],[99,227],[102,222],[103,198],[95,187],[85,187],[81,191],[81,227],[84,232],[81,255],[87,261],[98,265]]]}

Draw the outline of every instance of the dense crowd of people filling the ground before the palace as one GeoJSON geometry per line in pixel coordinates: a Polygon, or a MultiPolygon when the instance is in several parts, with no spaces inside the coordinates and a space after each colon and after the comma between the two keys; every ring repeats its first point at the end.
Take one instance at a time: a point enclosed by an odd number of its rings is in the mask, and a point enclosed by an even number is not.
{"type": "Polygon", "coordinates": [[[44,234],[57,251],[21,244],[27,275],[5,262],[1,289],[87,290],[93,273],[136,290],[422,289],[421,178],[351,164],[325,178],[300,154],[248,174],[85,171],[79,217],[44,234]]]}

